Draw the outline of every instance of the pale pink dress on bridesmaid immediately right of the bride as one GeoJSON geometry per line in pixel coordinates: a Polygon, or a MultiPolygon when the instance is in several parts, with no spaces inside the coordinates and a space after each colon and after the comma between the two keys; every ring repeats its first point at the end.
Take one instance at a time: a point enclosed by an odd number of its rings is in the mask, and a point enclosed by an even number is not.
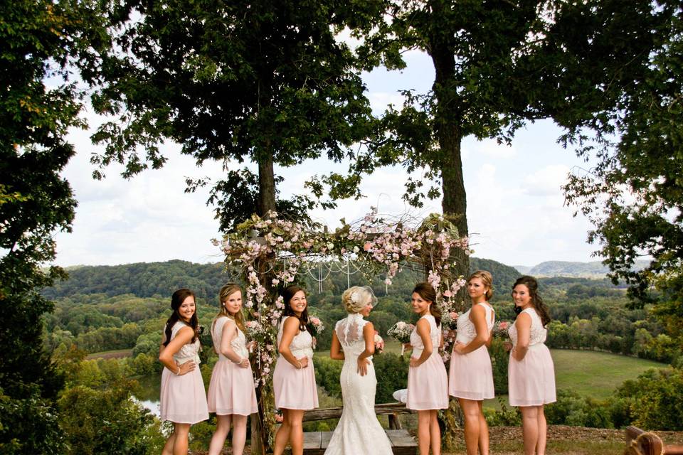
{"type": "MultiPolygon", "coordinates": [[[[422,365],[408,368],[408,398],[406,407],[409,410],[445,410],[448,409],[448,376],[439,355],[441,343],[441,326],[431,314],[425,314],[420,319],[429,321],[430,338],[432,340],[432,355],[422,365]]],[[[418,334],[417,326],[411,333],[413,346],[412,358],[420,358],[425,348],[422,338],[418,334]]]]}

